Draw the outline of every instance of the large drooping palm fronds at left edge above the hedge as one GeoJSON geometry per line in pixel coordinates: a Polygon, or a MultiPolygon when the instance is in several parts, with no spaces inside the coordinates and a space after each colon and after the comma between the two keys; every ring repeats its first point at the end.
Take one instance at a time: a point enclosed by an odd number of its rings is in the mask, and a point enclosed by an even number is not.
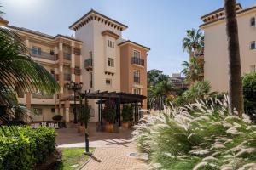
{"type": "Polygon", "coordinates": [[[15,111],[24,113],[18,105],[17,89],[23,93],[39,90],[54,94],[59,85],[42,65],[32,60],[18,34],[0,26],[0,124],[13,118],[15,111]]]}

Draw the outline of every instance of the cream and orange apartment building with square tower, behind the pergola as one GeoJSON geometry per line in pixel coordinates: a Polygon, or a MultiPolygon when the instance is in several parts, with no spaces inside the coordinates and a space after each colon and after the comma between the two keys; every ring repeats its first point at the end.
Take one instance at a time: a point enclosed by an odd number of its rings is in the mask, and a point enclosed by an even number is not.
{"type": "MultiPolygon", "coordinates": [[[[147,95],[147,56],[149,48],[122,38],[128,28],[122,23],[90,10],[69,26],[75,37],[55,37],[23,27],[0,25],[16,31],[30,49],[32,59],[43,65],[59,82],[59,94],[18,93],[20,104],[33,109],[34,121],[49,121],[55,114],[73,121],[73,91],[67,82],[83,82],[83,89],[147,95]]],[[[98,120],[96,100],[90,100],[91,120],[98,120]]],[[[143,108],[147,107],[146,101],[143,108]]]]}

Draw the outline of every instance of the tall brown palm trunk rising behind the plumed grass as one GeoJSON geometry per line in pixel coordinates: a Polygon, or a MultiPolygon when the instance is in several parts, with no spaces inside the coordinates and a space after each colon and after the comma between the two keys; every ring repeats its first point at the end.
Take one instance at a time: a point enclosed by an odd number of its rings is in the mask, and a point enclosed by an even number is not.
{"type": "Polygon", "coordinates": [[[224,0],[224,10],[229,51],[229,111],[231,114],[234,114],[234,109],[236,109],[238,115],[241,116],[244,110],[238,26],[236,20],[236,0],[224,0]]]}

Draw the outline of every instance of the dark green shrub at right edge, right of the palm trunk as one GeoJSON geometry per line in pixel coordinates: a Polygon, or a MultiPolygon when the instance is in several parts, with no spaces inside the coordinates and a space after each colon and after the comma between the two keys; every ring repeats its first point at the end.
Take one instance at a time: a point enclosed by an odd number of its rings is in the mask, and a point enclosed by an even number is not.
{"type": "Polygon", "coordinates": [[[244,109],[256,121],[256,73],[250,73],[242,79],[244,109]]]}

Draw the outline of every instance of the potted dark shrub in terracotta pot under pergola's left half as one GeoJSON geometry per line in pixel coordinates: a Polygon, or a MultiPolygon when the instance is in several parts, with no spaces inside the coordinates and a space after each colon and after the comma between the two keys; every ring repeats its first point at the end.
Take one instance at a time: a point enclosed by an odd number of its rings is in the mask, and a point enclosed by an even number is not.
{"type": "Polygon", "coordinates": [[[113,133],[113,121],[115,118],[115,111],[113,108],[105,108],[103,111],[103,118],[106,121],[105,130],[108,133],[113,133]]]}

